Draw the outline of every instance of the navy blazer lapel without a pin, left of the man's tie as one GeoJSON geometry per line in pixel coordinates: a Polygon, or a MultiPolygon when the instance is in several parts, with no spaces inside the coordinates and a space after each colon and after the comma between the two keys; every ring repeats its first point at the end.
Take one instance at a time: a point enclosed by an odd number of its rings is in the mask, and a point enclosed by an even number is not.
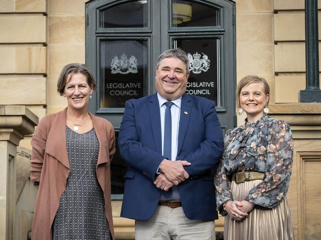
{"type": "Polygon", "coordinates": [[[152,132],[156,147],[155,149],[157,152],[161,153],[161,113],[157,93],[152,95],[150,98],[149,112],[151,116],[152,132]]]}

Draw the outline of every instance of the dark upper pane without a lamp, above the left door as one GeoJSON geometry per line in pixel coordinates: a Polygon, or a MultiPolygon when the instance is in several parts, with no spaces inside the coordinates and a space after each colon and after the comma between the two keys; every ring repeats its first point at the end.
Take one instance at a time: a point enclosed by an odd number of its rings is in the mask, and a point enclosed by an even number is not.
{"type": "Polygon", "coordinates": [[[146,28],[147,0],[110,7],[100,12],[99,28],[146,28]]]}

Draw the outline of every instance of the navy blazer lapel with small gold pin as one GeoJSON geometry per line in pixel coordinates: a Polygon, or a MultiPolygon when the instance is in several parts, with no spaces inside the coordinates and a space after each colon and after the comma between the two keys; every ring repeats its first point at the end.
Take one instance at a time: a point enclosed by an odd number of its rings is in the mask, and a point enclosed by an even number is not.
{"type": "Polygon", "coordinates": [[[178,146],[177,146],[177,155],[179,154],[183,140],[185,138],[188,122],[190,120],[190,116],[192,114],[192,99],[189,95],[184,94],[182,96],[182,103],[181,103],[181,112],[180,112],[180,119],[179,119],[179,130],[178,130],[178,146]]]}

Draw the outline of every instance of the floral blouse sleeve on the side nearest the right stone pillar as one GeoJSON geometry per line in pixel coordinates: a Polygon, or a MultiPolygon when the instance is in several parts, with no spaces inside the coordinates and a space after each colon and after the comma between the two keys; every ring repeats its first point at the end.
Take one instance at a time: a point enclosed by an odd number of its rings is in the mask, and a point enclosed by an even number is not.
{"type": "Polygon", "coordinates": [[[292,172],[293,139],[289,125],[273,121],[268,130],[267,171],[264,180],[252,188],[245,200],[256,207],[277,206],[285,197],[292,172]]]}

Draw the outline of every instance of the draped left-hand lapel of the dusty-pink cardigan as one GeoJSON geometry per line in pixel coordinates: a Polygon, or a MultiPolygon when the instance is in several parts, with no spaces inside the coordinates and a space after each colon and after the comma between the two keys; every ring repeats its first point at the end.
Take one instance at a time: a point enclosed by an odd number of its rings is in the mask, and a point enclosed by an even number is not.
{"type": "Polygon", "coordinates": [[[47,136],[46,152],[70,169],[66,143],[66,112],[67,107],[54,117],[47,136]]]}

